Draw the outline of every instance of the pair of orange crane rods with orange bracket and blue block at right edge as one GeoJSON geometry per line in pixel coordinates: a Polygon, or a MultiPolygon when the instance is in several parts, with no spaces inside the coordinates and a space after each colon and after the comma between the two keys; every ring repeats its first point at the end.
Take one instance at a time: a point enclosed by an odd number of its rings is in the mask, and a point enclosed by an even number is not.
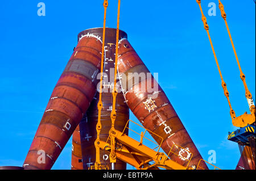
{"type": "Polygon", "coordinates": [[[243,72],[242,72],[241,65],[238,60],[237,52],[236,52],[236,49],[234,47],[234,43],[232,40],[232,36],[229,31],[228,23],[226,21],[226,13],[224,11],[224,6],[221,3],[221,1],[219,0],[218,7],[221,11],[221,16],[224,19],[225,24],[226,24],[226,29],[228,31],[230,42],[232,44],[232,48],[233,48],[233,51],[234,51],[234,54],[235,54],[235,57],[237,60],[238,68],[240,70],[240,78],[243,82],[243,86],[245,87],[245,96],[246,96],[247,102],[249,104],[249,109],[250,109],[250,114],[245,112],[243,115],[240,115],[238,117],[236,116],[236,113],[234,112],[234,110],[231,106],[230,100],[229,100],[229,92],[226,88],[226,83],[224,82],[224,79],[222,77],[220,66],[218,65],[216,52],[214,51],[212,39],[210,38],[209,26],[207,23],[207,19],[204,16],[204,13],[203,13],[203,10],[201,7],[201,0],[196,0],[196,2],[199,4],[200,11],[202,14],[202,21],[204,23],[204,28],[207,31],[207,35],[209,37],[209,41],[210,41],[210,45],[212,47],[214,58],[216,60],[217,68],[220,73],[221,85],[222,85],[222,88],[224,89],[224,94],[225,94],[226,98],[228,99],[229,108],[230,108],[230,116],[232,117],[232,123],[235,127],[240,128],[240,129],[237,129],[237,131],[234,131],[232,133],[229,132],[228,140],[238,143],[238,145],[240,147],[241,155],[243,157],[242,160],[243,160],[244,164],[250,165],[250,166],[246,166],[246,169],[250,169],[250,168],[255,169],[255,106],[254,106],[254,102],[253,102],[253,97],[247,87],[247,84],[245,81],[245,74],[243,74],[243,72]],[[243,149],[244,146],[246,146],[246,149],[243,149]]]}

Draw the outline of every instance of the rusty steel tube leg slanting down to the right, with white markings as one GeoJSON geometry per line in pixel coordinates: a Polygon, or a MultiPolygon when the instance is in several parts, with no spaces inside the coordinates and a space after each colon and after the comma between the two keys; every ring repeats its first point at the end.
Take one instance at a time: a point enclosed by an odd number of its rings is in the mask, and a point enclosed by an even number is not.
{"type": "MultiPolygon", "coordinates": [[[[118,72],[130,110],[150,131],[163,138],[162,149],[181,165],[195,169],[202,159],[163,89],[158,85],[127,39],[119,41],[118,72]],[[175,144],[175,145],[174,145],[175,144]],[[173,146],[174,145],[174,146],[173,146]],[[182,148],[180,148],[179,146],[182,148]],[[192,154],[191,154],[192,153],[192,154]]],[[[161,140],[152,134],[160,144],[161,140]]],[[[204,162],[200,164],[208,169],[204,162]]]]}

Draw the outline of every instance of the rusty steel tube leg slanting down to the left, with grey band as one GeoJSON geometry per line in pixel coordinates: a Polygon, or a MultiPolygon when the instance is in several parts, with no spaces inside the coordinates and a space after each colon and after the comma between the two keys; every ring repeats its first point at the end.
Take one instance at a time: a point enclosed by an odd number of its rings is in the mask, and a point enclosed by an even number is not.
{"type": "Polygon", "coordinates": [[[24,169],[51,169],[96,93],[100,37],[84,35],[68,61],[32,141],[24,169]]]}

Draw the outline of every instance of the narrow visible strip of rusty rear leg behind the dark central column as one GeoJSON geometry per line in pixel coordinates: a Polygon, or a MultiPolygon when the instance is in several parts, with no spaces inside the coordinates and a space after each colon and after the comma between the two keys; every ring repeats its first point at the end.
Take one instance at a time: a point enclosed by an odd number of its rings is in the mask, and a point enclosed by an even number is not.
{"type": "Polygon", "coordinates": [[[82,148],[80,140],[80,128],[78,125],[72,135],[71,170],[82,169],[82,148]]]}

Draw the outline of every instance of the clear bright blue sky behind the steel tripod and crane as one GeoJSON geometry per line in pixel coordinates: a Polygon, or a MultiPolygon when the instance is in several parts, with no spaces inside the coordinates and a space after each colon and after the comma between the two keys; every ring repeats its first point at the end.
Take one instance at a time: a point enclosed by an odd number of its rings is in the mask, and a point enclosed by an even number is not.
{"type": "MultiPolygon", "coordinates": [[[[52,90],[77,44],[77,34],[102,27],[102,1],[1,1],[0,165],[22,166],[52,90]],[[38,3],[46,16],[38,16],[38,3]]],[[[246,82],[255,97],[255,3],[222,0],[246,82]]],[[[236,115],[249,107],[217,0],[202,1],[210,35],[236,115]],[[209,16],[208,3],[217,5],[209,16]]],[[[107,26],[116,27],[117,1],[109,0],[107,26]]],[[[240,152],[227,140],[232,125],[196,0],[121,1],[120,29],[152,73],[203,158],[235,169],[240,152]]],[[[135,117],[131,115],[132,120],[135,117]]],[[[53,169],[71,168],[69,140],[53,169]]],[[[131,168],[131,167],[129,167],[131,168]]]]}

